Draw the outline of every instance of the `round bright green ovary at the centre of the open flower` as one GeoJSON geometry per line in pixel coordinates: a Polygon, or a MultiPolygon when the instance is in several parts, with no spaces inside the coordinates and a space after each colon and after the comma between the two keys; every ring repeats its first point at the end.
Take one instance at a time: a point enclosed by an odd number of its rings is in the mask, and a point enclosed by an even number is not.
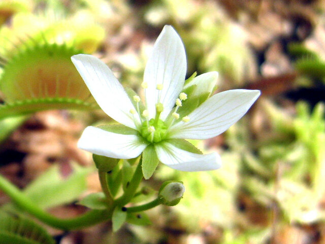
{"type": "Polygon", "coordinates": [[[167,126],[165,125],[163,120],[158,119],[157,123],[152,118],[148,121],[144,121],[141,126],[141,135],[145,138],[148,142],[159,142],[166,138],[167,134],[167,126]],[[150,132],[149,127],[153,126],[155,131],[150,132]],[[153,137],[152,137],[153,133],[153,137]]]}

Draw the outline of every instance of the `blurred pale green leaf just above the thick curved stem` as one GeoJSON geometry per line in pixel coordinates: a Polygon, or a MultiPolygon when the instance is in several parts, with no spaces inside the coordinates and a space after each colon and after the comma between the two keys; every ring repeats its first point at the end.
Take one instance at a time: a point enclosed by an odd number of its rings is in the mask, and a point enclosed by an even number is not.
{"type": "Polygon", "coordinates": [[[76,164],[73,173],[63,179],[57,165],[31,182],[23,193],[40,208],[49,208],[76,200],[86,190],[86,177],[91,168],[76,164]]]}

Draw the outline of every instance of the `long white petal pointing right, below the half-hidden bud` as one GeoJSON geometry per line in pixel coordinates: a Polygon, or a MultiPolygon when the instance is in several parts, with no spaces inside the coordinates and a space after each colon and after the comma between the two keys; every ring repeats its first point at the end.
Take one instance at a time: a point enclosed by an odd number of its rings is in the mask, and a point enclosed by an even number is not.
{"type": "Polygon", "coordinates": [[[179,121],[170,129],[170,138],[207,139],[236,123],[259,97],[259,90],[227,90],[218,93],[191,112],[187,123],[179,121]]]}

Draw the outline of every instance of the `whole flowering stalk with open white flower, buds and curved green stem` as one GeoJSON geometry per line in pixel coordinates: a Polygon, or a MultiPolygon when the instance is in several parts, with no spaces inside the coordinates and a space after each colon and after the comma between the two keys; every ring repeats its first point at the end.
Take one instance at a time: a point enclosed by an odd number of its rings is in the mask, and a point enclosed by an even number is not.
{"type": "Polygon", "coordinates": [[[64,230],[78,229],[111,219],[113,230],[124,222],[149,223],[143,211],[164,204],[176,205],[185,188],[180,181],[165,182],[148,194],[139,186],[159,162],[181,171],[205,171],[221,166],[217,153],[202,152],[186,139],[208,139],[236,123],[258,98],[258,90],[236,89],[213,95],[217,72],[194,73],[185,81],[186,56],[173,27],[166,25],[157,38],[144,71],[145,102],[124,89],[98,58],[78,54],[73,64],[98,105],[118,125],[87,127],[78,147],[90,151],[99,172],[103,193],[80,201],[92,210],[74,219],[47,214],[0,178],[0,188],[22,209],[44,223],[64,230]],[[156,195],[151,199],[152,195],[156,195]],[[146,203],[135,204],[144,197],[146,203]]]}

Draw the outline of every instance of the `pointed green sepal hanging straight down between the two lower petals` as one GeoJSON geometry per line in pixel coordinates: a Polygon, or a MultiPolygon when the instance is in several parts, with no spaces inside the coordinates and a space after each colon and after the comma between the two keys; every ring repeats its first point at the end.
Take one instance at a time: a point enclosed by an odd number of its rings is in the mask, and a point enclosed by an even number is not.
{"type": "Polygon", "coordinates": [[[142,153],[142,173],[145,179],[149,179],[157,168],[159,159],[157,158],[154,145],[148,145],[142,153]]]}

